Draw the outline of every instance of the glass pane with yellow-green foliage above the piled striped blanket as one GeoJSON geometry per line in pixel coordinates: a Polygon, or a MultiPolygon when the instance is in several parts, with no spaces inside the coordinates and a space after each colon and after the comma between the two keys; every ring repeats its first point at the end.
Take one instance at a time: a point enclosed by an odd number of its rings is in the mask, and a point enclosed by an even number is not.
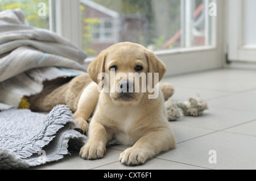
{"type": "Polygon", "coordinates": [[[48,0],[0,0],[0,11],[21,9],[32,27],[49,30],[49,1],[48,0]]]}

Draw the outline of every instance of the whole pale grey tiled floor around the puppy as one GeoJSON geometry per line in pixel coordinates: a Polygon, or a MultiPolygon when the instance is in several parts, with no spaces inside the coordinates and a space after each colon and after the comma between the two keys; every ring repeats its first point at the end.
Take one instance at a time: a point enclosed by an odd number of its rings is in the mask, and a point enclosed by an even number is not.
{"type": "Polygon", "coordinates": [[[170,122],[176,134],[175,149],[135,167],[118,161],[128,148],[119,145],[108,148],[102,159],[84,160],[74,151],[34,169],[256,169],[256,71],[213,70],[162,82],[175,87],[174,100],[185,101],[199,93],[209,106],[201,117],[170,122]],[[216,152],[209,154],[210,150],[216,152]],[[216,163],[209,163],[214,156],[216,163]]]}

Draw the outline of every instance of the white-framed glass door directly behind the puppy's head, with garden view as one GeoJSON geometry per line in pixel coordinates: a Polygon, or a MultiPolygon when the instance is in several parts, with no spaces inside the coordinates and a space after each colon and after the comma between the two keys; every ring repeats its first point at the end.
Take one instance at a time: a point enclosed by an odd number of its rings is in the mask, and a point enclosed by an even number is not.
{"type": "Polygon", "coordinates": [[[130,41],[151,49],[166,75],[221,68],[224,1],[80,0],[81,48],[86,62],[102,49],[130,41]]]}

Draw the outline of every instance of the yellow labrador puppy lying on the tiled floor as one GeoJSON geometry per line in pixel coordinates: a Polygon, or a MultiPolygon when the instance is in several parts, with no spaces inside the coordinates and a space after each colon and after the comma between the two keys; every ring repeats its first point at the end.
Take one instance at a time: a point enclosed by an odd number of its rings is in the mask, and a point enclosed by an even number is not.
{"type": "Polygon", "coordinates": [[[98,55],[88,68],[94,82],[82,93],[74,115],[86,130],[85,120],[97,104],[88,142],[80,150],[82,158],[102,158],[106,143],[113,138],[133,145],[120,154],[119,161],[125,165],[142,164],[175,147],[157,85],[165,72],[163,62],[139,44],[115,44],[98,55]]]}

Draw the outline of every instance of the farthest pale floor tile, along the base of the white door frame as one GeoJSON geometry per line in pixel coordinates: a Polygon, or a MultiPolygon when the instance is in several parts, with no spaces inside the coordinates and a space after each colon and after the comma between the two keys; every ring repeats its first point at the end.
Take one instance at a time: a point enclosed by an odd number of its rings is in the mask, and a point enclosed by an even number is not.
{"type": "Polygon", "coordinates": [[[174,87],[193,87],[214,91],[244,91],[256,88],[256,71],[253,70],[213,70],[203,73],[164,78],[161,82],[174,87]]]}

